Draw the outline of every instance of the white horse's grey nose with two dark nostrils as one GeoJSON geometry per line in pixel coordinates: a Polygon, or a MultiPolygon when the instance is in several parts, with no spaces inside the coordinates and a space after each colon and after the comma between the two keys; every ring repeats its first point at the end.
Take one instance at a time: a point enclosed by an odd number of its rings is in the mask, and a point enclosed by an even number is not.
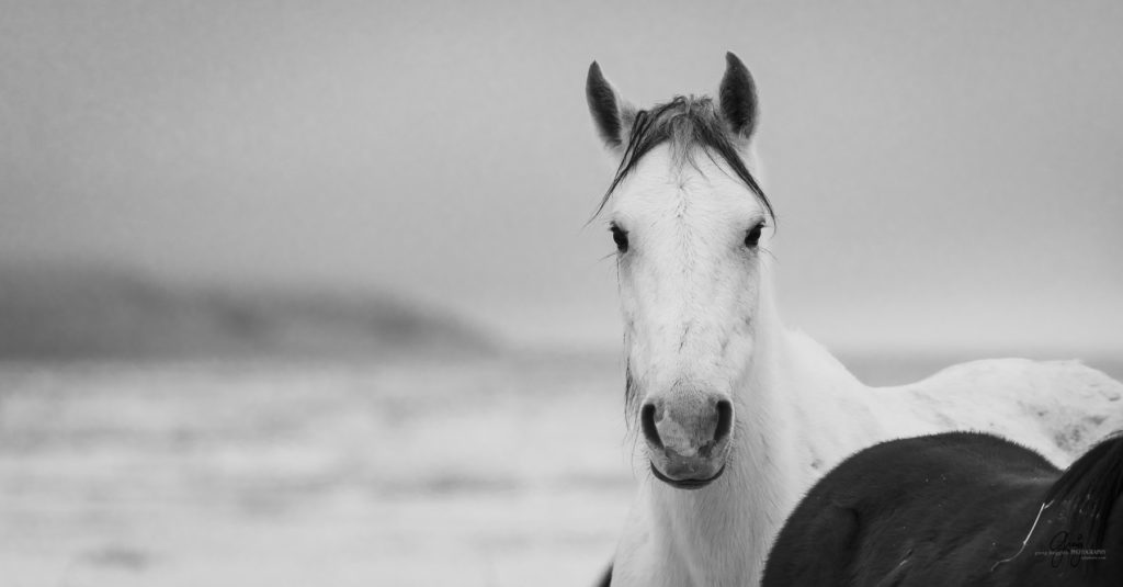
{"type": "Polygon", "coordinates": [[[649,399],[640,426],[648,444],[667,457],[709,459],[733,430],[733,405],[715,395],[649,399]]]}

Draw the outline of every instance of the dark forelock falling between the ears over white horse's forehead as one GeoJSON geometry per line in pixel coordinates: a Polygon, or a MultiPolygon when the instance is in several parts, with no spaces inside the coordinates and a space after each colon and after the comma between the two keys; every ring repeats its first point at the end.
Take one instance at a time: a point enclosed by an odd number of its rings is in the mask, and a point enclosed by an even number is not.
{"type": "Polygon", "coordinates": [[[617,168],[617,174],[604,192],[596,214],[604,209],[612,192],[636,169],[643,155],[668,143],[675,161],[679,163],[694,165],[693,157],[699,151],[705,153],[714,163],[718,162],[714,156],[720,157],[752,191],[767,210],[768,217],[775,222],[776,214],[773,211],[772,202],[752,177],[752,172],[745,166],[745,161],[738,154],[724,120],[718,114],[713,98],[676,96],[669,102],[657,105],[650,110],[640,110],[636,112],[629,135],[620,166],[617,168]]]}

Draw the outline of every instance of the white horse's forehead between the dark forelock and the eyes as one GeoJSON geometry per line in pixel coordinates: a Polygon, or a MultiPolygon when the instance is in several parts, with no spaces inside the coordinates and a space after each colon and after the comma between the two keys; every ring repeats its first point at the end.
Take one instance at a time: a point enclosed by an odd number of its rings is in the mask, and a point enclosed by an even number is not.
{"type": "Polygon", "coordinates": [[[613,195],[613,213],[641,225],[742,224],[761,211],[748,187],[703,152],[675,161],[669,148],[648,153],[613,195]]]}

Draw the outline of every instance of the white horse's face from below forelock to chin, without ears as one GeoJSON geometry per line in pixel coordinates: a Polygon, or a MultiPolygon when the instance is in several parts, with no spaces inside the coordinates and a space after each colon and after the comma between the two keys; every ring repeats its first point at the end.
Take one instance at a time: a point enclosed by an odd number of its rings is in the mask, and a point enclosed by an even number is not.
{"type": "Polygon", "coordinates": [[[766,210],[699,154],[649,153],[610,200],[630,394],[657,478],[701,487],[724,467],[732,389],[754,344],[766,210]]]}

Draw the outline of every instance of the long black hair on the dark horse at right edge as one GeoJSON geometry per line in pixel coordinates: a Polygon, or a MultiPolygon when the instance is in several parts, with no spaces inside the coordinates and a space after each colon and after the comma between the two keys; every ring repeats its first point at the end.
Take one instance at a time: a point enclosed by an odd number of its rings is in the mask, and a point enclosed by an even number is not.
{"type": "Polygon", "coordinates": [[[1113,506],[1123,497],[1123,431],[1117,431],[1076,460],[1049,489],[1046,503],[1069,502],[1072,530],[1086,532],[1085,544],[1104,548],[1113,506]]]}

